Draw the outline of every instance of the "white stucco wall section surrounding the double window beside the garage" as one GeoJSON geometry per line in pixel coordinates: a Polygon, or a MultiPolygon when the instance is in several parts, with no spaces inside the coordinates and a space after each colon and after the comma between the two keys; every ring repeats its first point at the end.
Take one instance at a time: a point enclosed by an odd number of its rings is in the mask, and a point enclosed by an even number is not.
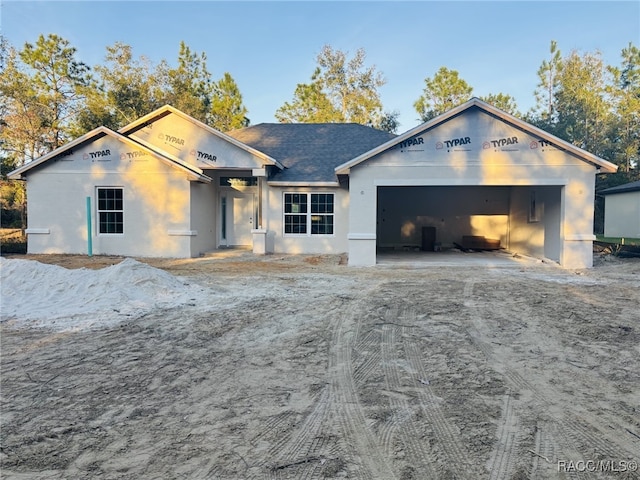
{"type": "Polygon", "coordinates": [[[263,227],[267,230],[274,253],[345,253],[349,222],[349,192],[338,187],[268,187],[264,195],[263,227]],[[333,193],[334,233],[333,235],[285,235],[284,194],[285,193],[333,193]]]}

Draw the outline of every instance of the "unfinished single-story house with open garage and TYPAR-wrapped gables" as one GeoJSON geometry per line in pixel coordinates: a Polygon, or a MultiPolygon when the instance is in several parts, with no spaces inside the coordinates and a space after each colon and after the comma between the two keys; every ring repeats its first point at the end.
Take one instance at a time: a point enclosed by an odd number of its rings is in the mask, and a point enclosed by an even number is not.
{"type": "Polygon", "coordinates": [[[478,99],[396,136],[357,124],[220,133],[170,107],[15,170],[30,253],[343,253],[463,237],[592,265],[596,172],[616,166],[478,99]],[[88,211],[93,223],[87,228],[88,211]],[[425,233],[427,232],[427,233],[425,233]]]}

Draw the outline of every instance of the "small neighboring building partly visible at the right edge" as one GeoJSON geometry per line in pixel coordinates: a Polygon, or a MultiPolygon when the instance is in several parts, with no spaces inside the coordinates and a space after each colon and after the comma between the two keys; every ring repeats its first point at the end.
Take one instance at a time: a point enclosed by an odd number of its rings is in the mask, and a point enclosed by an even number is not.
{"type": "Polygon", "coordinates": [[[604,236],[640,238],[640,180],[600,192],[604,199],[604,236]]]}

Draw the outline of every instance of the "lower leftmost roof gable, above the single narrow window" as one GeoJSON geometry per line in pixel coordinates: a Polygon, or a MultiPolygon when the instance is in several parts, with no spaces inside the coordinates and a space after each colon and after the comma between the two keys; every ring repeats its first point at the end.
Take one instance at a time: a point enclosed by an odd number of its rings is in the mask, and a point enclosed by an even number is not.
{"type": "Polygon", "coordinates": [[[117,158],[119,160],[127,160],[130,156],[131,158],[139,159],[141,157],[149,156],[155,158],[156,160],[169,165],[183,173],[186,173],[190,180],[200,181],[208,183],[211,181],[211,178],[204,175],[202,170],[193,166],[182,162],[178,158],[173,158],[171,156],[163,155],[153,149],[150,149],[140,143],[120,135],[113,130],[110,130],[107,127],[98,127],[90,132],[82,135],[81,137],[72,140],[71,142],[66,143],[65,145],[49,152],[46,155],[43,155],[32,162],[29,162],[23,165],[20,168],[15,169],[11,173],[9,173],[8,177],[12,179],[22,178],[24,174],[27,174],[29,171],[36,168],[46,168],[50,162],[56,160],[65,160],[65,161],[74,161],[76,160],[75,156],[78,151],[82,151],[82,156],[78,160],[82,161],[110,161],[112,158],[117,158]],[[119,144],[123,144],[126,146],[124,149],[115,149],[111,151],[110,149],[100,148],[95,152],[87,152],[86,147],[92,144],[103,144],[104,139],[109,138],[111,140],[116,141],[119,144]]]}

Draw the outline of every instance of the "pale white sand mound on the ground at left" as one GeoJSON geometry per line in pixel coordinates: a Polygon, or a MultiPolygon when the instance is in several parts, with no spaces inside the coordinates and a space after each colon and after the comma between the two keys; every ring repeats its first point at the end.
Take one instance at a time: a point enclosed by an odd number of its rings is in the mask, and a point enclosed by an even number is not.
{"type": "Polygon", "coordinates": [[[108,326],[195,303],[203,290],[133,259],[100,270],[69,270],[2,258],[0,279],[0,321],[54,330],[108,326]]]}

